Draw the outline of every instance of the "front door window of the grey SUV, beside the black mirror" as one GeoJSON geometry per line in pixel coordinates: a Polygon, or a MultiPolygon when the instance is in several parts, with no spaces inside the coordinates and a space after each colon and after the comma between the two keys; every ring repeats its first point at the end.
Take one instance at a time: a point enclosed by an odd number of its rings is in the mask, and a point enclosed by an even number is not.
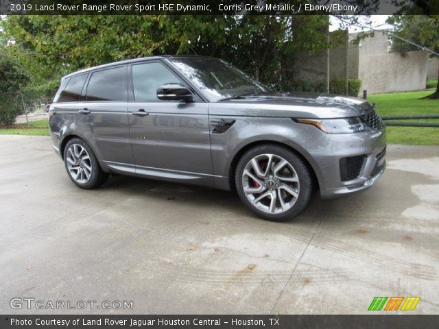
{"type": "Polygon", "coordinates": [[[163,84],[182,84],[182,81],[160,62],[132,65],[134,101],[160,101],[157,88],[163,84]]]}

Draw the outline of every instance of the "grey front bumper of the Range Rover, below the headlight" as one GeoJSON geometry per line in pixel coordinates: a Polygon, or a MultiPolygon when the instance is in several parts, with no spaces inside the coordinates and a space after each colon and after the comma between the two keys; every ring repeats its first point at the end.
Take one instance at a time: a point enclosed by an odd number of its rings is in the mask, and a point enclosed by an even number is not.
{"type": "Polygon", "coordinates": [[[323,180],[320,182],[322,199],[346,195],[369,188],[385,170],[385,127],[377,132],[361,134],[327,135],[332,147],[331,156],[318,156],[323,180]],[[355,136],[353,136],[355,135],[355,136]],[[355,177],[342,178],[340,169],[346,157],[360,157],[362,160],[355,177]]]}

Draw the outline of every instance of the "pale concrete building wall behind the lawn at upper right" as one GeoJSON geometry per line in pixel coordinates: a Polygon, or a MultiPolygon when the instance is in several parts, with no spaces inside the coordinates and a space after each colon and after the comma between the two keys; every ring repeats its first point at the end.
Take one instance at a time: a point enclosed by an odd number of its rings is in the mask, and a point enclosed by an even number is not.
{"type": "Polygon", "coordinates": [[[357,34],[332,32],[331,40],[337,38],[338,46],[316,55],[298,54],[296,75],[314,82],[326,81],[328,72],[330,79],[359,79],[361,90],[368,93],[425,89],[427,72],[431,79],[438,76],[439,60],[429,58],[423,50],[409,51],[404,56],[392,52],[386,32],[375,32],[360,42],[355,42],[357,34]]]}

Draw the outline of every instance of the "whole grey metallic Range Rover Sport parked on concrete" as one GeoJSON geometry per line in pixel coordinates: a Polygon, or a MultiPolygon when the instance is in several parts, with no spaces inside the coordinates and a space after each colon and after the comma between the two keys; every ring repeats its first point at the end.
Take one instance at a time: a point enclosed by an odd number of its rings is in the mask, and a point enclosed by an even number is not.
{"type": "Polygon", "coordinates": [[[266,219],[371,186],[385,127],[367,101],[272,93],[215,58],[153,57],[62,78],[54,148],[81,188],[109,173],[236,189],[266,219]]]}

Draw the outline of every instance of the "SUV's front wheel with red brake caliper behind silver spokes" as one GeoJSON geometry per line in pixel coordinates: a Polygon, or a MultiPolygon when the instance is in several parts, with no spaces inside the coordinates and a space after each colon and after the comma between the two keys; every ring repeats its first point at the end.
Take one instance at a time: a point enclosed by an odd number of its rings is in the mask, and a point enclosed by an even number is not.
{"type": "Polygon", "coordinates": [[[241,202],[270,221],[298,216],[311,202],[314,190],[305,162],[286,147],[274,144],[246,151],[236,167],[235,185],[241,202]]]}

